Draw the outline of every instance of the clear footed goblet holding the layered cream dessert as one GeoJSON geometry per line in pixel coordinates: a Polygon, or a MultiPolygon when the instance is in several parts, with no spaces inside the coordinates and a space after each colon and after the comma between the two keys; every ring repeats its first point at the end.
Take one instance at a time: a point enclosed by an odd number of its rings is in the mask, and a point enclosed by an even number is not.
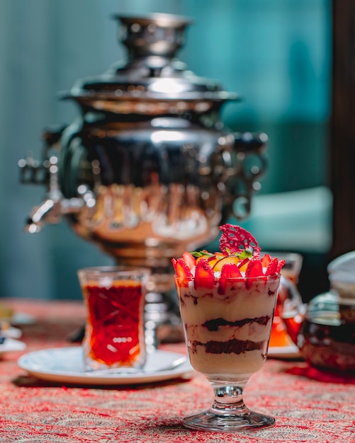
{"type": "Polygon", "coordinates": [[[209,410],[184,418],[186,427],[231,432],[274,425],[244,405],[243,389],[267,357],[280,277],[227,278],[222,289],[217,277],[175,277],[188,357],[215,394],[209,410]]]}

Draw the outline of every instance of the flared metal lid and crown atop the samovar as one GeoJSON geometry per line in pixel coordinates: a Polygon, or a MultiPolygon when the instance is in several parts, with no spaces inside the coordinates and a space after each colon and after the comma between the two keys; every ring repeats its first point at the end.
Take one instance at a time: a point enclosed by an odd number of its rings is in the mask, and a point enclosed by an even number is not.
{"type": "Polygon", "coordinates": [[[80,79],[62,98],[88,100],[238,100],[217,81],[197,76],[175,57],[184,45],[190,18],[166,13],[114,16],[119,41],[128,50],[123,62],[100,76],[80,79]]]}

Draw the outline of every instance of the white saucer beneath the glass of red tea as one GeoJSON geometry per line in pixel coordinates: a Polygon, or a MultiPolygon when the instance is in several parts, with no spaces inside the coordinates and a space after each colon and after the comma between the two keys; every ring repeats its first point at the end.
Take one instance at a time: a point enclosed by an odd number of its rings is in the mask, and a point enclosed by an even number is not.
{"type": "Polygon", "coordinates": [[[39,379],[59,381],[60,383],[85,385],[140,384],[177,377],[190,378],[193,369],[188,360],[175,369],[159,371],[159,368],[169,366],[179,357],[181,357],[181,354],[176,352],[157,350],[147,355],[145,370],[150,372],[95,374],[95,372],[85,372],[81,346],[72,346],[28,352],[28,354],[18,359],[18,366],[39,379]]]}

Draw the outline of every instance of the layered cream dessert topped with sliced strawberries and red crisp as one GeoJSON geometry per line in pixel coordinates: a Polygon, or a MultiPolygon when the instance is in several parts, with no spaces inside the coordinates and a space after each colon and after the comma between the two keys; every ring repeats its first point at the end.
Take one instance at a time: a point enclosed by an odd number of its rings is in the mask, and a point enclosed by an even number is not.
{"type": "Polygon", "coordinates": [[[240,226],[220,226],[220,252],[174,259],[188,355],[209,379],[249,378],[267,356],[283,260],[240,226]]]}

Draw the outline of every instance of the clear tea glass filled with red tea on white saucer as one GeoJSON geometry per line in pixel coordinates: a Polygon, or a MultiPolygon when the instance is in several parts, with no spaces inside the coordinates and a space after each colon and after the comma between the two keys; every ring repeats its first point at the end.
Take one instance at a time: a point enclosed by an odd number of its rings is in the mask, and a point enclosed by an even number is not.
{"type": "Polygon", "coordinates": [[[83,341],[86,371],[142,369],[145,347],[145,284],[150,272],[128,267],[78,271],[87,310],[83,341]]]}

